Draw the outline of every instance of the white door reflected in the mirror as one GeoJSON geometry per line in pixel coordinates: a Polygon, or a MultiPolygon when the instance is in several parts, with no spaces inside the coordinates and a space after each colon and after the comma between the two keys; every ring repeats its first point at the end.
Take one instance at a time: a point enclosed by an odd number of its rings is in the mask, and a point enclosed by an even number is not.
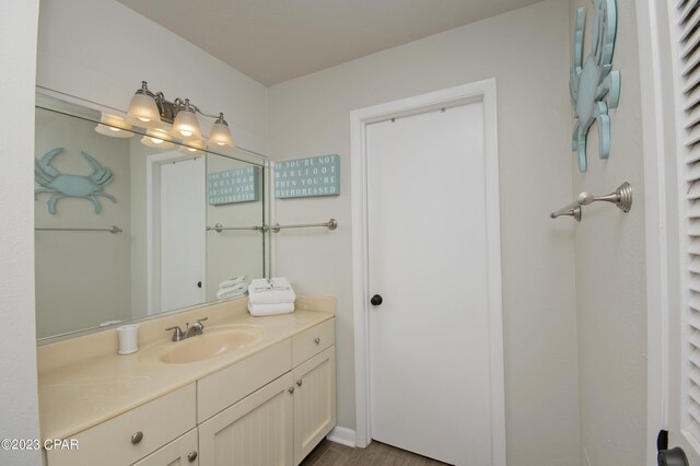
{"type": "Polygon", "coordinates": [[[161,311],[205,301],[205,158],[160,165],[161,311]]]}

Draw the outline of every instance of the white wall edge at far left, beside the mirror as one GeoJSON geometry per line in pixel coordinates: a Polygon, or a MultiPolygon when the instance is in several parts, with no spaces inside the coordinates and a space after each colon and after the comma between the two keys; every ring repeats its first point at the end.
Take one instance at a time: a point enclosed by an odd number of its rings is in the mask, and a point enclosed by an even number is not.
{"type": "MultiPolygon", "coordinates": [[[[0,439],[37,439],[34,329],[34,74],[38,1],[0,14],[0,439]]],[[[1,463],[39,464],[37,451],[0,451],[1,463]]]]}

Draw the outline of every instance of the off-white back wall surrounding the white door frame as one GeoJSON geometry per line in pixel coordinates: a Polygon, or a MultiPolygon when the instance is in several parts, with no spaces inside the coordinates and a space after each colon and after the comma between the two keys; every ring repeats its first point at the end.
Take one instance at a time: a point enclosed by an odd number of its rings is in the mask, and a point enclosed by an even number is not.
{"type": "Polygon", "coordinates": [[[270,88],[273,160],[341,158],[339,197],[277,200],[273,219],[339,221],[275,238],[276,273],[338,298],[341,427],[355,427],[349,113],[495,77],[508,455],[518,466],[578,461],[573,223],[548,218],[572,193],[568,14],[548,0],[270,88]]]}

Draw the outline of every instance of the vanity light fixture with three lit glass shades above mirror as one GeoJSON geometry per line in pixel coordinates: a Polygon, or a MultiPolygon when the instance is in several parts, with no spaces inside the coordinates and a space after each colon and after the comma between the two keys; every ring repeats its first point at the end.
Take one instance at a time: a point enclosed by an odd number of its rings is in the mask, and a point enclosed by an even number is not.
{"type": "Polygon", "coordinates": [[[218,117],[207,115],[195,104],[191,104],[189,98],[177,97],[173,102],[166,101],[162,92],[152,93],[145,81],[141,81],[141,89],[136,91],[131,97],[127,121],[142,128],[156,128],[162,123],[168,123],[173,125],[171,133],[174,137],[185,140],[200,139],[201,129],[196,114],[217,119],[210,131],[211,143],[220,147],[233,147],[233,136],[231,136],[231,130],[226,120],[223,119],[222,113],[218,117]]]}

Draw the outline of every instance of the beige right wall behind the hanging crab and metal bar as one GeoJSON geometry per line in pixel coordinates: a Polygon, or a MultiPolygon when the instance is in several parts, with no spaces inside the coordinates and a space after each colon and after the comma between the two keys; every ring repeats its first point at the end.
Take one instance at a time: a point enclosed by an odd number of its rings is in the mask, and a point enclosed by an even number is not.
{"type": "MultiPolygon", "coordinates": [[[[569,1],[570,36],[576,8],[587,8],[584,57],[591,50],[594,10],[569,1]]],[[[633,0],[618,0],[612,59],[622,74],[619,108],[611,110],[611,151],[598,158],[598,133],[588,137],[588,171],[573,168],[573,193],[608,194],[628,180],[634,203],[628,214],[610,206],[584,210],[575,229],[581,464],[645,463],[646,289],[642,125],[637,16],[633,0]],[[587,456],[587,457],[586,457],[587,456]]]]}

